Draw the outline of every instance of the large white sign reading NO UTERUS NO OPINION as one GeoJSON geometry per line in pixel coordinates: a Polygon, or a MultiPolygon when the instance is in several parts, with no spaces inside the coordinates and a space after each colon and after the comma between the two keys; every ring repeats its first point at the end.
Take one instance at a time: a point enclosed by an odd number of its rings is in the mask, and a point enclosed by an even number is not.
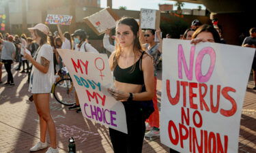
{"type": "Polygon", "coordinates": [[[238,152],[255,50],[163,40],[160,139],[179,152],[238,152]]]}

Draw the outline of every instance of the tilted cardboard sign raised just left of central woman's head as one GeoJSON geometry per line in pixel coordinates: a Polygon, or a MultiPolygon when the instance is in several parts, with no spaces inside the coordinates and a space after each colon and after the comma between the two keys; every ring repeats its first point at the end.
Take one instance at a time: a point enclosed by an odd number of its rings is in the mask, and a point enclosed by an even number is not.
{"type": "Polygon", "coordinates": [[[84,18],[84,20],[97,35],[101,35],[106,29],[113,29],[115,27],[119,16],[107,7],[96,14],[84,18]]]}

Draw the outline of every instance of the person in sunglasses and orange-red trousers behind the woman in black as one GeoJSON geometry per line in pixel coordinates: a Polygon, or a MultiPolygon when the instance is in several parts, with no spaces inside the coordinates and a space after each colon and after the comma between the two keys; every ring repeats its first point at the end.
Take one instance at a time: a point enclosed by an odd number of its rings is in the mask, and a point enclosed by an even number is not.
{"type": "Polygon", "coordinates": [[[160,36],[160,29],[147,29],[145,31],[144,37],[145,37],[145,49],[148,54],[150,54],[153,57],[154,60],[154,97],[153,97],[153,103],[154,103],[154,112],[151,114],[150,118],[146,120],[146,128],[148,131],[145,133],[145,137],[159,137],[159,109],[158,109],[158,101],[156,96],[156,83],[157,83],[157,65],[159,63],[160,54],[162,53],[161,50],[161,44],[162,44],[162,38],[160,36]],[[155,34],[156,33],[156,34],[155,34]],[[156,37],[160,40],[160,43],[156,43],[154,41],[156,37]]]}

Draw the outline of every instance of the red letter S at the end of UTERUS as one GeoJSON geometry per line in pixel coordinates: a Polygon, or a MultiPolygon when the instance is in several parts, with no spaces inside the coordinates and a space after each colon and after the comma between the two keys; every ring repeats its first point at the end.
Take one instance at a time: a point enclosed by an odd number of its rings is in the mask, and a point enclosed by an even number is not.
{"type": "Polygon", "coordinates": [[[223,116],[227,116],[227,117],[233,116],[233,114],[236,114],[236,110],[238,109],[235,99],[233,99],[232,97],[230,97],[228,95],[227,92],[229,92],[229,91],[236,92],[236,89],[231,88],[231,87],[225,87],[225,88],[223,88],[223,90],[221,90],[223,97],[225,97],[225,99],[229,100],[230,103],[232,104],[232,108],[229,110],[221,109],[221,114],[223,116]]]}

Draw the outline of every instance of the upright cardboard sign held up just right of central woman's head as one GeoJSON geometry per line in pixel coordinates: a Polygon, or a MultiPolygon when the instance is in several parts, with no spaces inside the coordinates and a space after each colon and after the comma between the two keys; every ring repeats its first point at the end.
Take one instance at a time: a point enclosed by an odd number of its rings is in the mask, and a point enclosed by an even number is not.
{"type": "Polygon", "coordinates": [[[141,9],[141,29],[157,29],[160,27],[160,11],[141,9]]]}

